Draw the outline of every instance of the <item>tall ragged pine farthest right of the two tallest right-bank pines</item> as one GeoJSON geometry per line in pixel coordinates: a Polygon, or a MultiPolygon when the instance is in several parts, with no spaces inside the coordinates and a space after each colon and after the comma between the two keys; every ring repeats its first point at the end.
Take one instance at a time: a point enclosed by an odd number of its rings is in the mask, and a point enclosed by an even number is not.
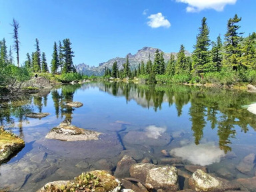
{"type": "Polygon", "coordinates": [[[239,18],[237,14],[227,21],[227,33],[225,34],[224,42],[225,55],[223,63],[225,66],[233,68],[233,70],[238,70],[239,58],[241,57],[240,42],[242,37],[240,35],[242,33],[237,32],[240,29],[240,26],[237,25],[239,21],[241,21],[241,17],[239,18]]]}

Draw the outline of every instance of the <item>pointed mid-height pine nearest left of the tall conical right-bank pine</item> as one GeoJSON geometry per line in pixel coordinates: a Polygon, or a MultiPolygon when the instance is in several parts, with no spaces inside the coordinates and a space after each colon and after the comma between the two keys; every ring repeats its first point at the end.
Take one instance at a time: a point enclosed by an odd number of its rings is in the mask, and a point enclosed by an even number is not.
{"type": "Polygon", "coordinates": [[[175,74],[187,73],[187,60],[185,55],[185,47],[181,45],[177,54],[177,62],[175,64],[175,74]]]}

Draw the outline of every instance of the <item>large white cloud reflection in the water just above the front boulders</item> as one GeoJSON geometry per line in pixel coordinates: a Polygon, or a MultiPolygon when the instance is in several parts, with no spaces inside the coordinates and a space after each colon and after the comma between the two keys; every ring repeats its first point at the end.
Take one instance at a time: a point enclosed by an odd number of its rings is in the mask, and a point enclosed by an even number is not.
{"type": "Polygon", "coordinates": [[[195,165],[202,166],[219,163],[221,157],[225,155],[224,151],[221,151],[213,142],[200,145],[185,145],[171,149],[170,154],[187,159],[195,165]]]}

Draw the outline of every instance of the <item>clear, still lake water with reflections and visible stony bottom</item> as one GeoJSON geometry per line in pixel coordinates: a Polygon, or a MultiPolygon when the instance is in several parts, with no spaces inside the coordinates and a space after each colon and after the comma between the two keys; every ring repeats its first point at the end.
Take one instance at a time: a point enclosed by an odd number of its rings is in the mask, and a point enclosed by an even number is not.
{"type": "Polygon", "coordinates": [[[163,149],[169,157],[182,157],[183,164],[205,165],[225,179],[252,177],[255,168],[245,175],[235,165],[256,154],[256,116],[242,107],[253,102],[256,94],[247,92],[94,82],[1,103],[1,124],[26,145],[0,166],[0,189],[37,191],[49,181],[73,179],[83,171],[115,171],[125,154],[138,163],[147,157],[161,164],[163,149]],[[67,108],[71,101],[83,107],[67,108]],[[50,115],[39,120],[26,118],[27,112],[50,115]],[[104,134],[88,142],[45,139],[65,119],[104,134]]]}

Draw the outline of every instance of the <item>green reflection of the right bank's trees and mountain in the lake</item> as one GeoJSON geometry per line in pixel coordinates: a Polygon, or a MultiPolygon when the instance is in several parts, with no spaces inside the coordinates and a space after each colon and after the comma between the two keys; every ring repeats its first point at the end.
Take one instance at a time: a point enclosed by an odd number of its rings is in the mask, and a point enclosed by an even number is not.
{"type": "Polygon", "coordinates": [[[219,149],[225,153],[231,151],[231,139],[237,134],[236,126],[246,133],[251,126],[256,130],[255,115],[241,108],[255,102],[253,94],[217,88],[200,88],[194,86],[146,86],[121,82],[97,84],[99,89],[124,96],[126,101],[135,100],[143,108],[161,110],[163,102],[175,105],[177,116],[181,116],[183,107],[190,104],[189,120],[196,145],[200,144],[207,124],[211,129],[217,128],[219,149]]]}

